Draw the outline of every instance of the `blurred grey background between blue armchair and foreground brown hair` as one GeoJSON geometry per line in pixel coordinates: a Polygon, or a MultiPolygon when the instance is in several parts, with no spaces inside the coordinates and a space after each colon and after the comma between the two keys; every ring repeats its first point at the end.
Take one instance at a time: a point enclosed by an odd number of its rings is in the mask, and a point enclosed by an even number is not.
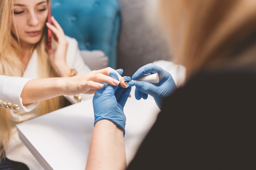
{"type": "MultiPolygon", "coordinates": [[[[132,74],[155,60],[171,60],[171,54],[157,26],[147,20],[144,10],[149,0],[119,0],[122,23],[117,49],[117,68],[132,74]]],[[[149,11],[150,12],[150,11],[149,11]]]]}

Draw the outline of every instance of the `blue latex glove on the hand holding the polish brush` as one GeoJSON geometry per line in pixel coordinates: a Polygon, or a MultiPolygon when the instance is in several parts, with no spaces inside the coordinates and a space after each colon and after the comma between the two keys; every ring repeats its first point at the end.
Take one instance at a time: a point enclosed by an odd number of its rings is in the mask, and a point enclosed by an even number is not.
{"type": "Polygon", "coordinates": [[[135,98],[137,100],[143,98],[147,99],[148,95],[154,97],[157,106],[161,109],[162,100],[170,95],[177,87],[171,74],[163,68],[155,64],[146,64],[139,68],[133,75],[132,79],[137,80],[146,74],[158,73],[159,83],[149,83],[144,81],[131,82],[130,86],[136,86],[135,98]]]}

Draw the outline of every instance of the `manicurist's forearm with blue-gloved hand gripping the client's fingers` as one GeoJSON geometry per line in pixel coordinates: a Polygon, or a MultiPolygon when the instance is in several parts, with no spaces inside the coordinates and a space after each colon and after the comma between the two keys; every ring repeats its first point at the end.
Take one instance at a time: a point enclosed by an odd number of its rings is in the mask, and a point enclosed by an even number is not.
{"type": "MultiPolygon", "coordinates": [[[[118,79],[114,72],[110,76],[118,79]]],[[[106,85],[94,94],[94,130],[86,170],[126,169],[124,106],[130,91],[131,87],[106,85]]]]}

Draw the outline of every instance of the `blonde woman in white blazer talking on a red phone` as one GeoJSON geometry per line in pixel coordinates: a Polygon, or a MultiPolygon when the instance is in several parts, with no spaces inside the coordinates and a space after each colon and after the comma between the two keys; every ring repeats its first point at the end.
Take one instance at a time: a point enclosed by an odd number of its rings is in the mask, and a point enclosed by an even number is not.
{"type": "Polygon", "coordinates": [[[112,68],[91,71],[84,64],[76,40],[54,18],[46,23],[50,3],[0,1],[0,170],[43,169],[20,141],[16,124],[65,106],[63,95],[92,97],[101,82],[128,86],[120,75],[108,76],[112,68]],[[47,28],[51,50],[45,48],[47,28]]]}

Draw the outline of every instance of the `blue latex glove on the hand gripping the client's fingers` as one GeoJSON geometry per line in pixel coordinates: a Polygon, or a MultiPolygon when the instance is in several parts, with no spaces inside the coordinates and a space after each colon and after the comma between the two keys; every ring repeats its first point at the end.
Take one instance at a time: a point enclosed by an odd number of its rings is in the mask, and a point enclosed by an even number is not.
{"type": "MultiPolygon", "coordinates": [[[[117,71],[119,73],[119,71],[117,71]]],[[[118,79],[115,72],[109,74],[118,79]]],[[[130,77],[124,76],[125,80],[130,77]]],[[[94,125],[101,119],[108,119],[120,126],[125,135],[126,117],[124,115],[124,105],[130,95],[131,87],[122,88],[121,86],[111,86],[104,84],[102,89],[98,89],[92,99],[94,109],[94,125]]]]}

